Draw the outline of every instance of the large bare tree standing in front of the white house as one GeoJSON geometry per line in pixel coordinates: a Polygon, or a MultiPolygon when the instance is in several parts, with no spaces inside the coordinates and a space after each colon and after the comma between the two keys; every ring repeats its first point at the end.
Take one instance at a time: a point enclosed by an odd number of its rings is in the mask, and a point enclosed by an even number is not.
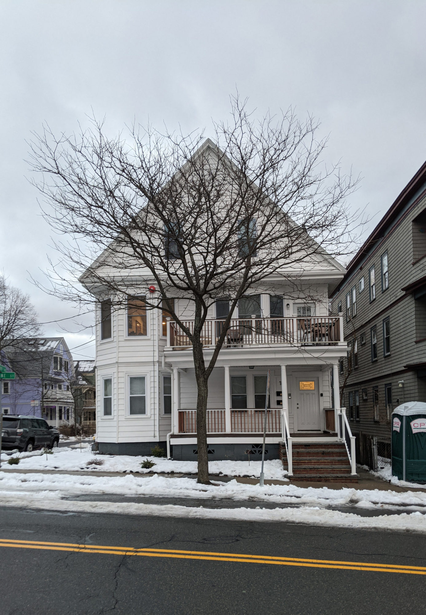
{"type": "Polygon", "coordinates": [[[198,482],[208,482],[209,376],[239,299],[274,275],[300,295],[307,270],[354,249],[357,212],[348,212],[345,199],[357,180],[323,164],[327,140],[317,140],[317,130],[311,117],[301,123],[291,109],[257,122],[234,98],[230,122],[214,124],[214,141],[150,126],[133,126],[128,141],[110,139],[93,121],[72,137],[45,127],[31,144],[44,215],[71,237],[56,244],[68,272],[50,271],[50,292],[80,303],[109,298],[120,309],[155,283],[148,308],[166,306],[190,341],[198,482]],[[87,295],[79,285],[72,292],[71,279],[80,279],[87,295]],[[174,308],[182,297],[192,303],[193,326],[174,308]],[[207,311],[224,297],[230,313],[207,355],[207,311]]]}

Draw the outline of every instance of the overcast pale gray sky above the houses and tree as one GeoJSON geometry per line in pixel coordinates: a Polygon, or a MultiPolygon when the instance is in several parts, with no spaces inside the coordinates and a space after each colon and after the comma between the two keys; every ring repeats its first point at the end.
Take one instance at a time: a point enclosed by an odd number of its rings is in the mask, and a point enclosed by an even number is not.
{"type": "MultiPolygon", "coordinates": [[[[0,0],[0,270],[41,322],[76,313],[28,281],[55,258],[25,179],[42,122],[71,132],[93,109],[110,134],[149,116],[209,136],[236,87],[259,116],[320,119],[327,159],[363,177],[350,205],[368,205],[370,231],[426,158],[425,23],[424,0],[0,0]]],[[[45,334],[91,339],[63,324],[45,334]]]]}

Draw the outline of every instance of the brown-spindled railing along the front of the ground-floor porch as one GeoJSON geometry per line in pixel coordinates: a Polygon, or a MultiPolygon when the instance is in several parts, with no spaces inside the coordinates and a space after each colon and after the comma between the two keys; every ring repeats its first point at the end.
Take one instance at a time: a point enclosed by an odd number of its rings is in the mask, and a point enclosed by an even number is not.
{"type": "MultiPolygon", "coordinates": [[[[265,423],[265,410],[244,408],[231,410],[231,433],[261,434],[265,423]]],[[[179,410],[179,434],[196,434],[196,410],[179,410]]],[[[207,434],[224,434],[225,410],[207,410],[207,434]]],[[[266,432],[281,433],[281,408],[266,411],[266,432]]]]}

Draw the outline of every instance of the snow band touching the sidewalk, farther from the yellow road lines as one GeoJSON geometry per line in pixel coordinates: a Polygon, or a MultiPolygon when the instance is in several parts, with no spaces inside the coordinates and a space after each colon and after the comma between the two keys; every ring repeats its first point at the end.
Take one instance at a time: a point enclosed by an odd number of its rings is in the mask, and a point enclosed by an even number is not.
{"type": "Polygon", "coordinates": [[[197,498],[221,500],[252,500],[292,506],[345,507],[355,509],[382,508],[422,510],[426,512],[426,493],[408,491],[396,493],[382,490],[356,490],[354,488],[328,489],[302,488],[286,485],[250,485],[231,480],[214,481],[214,485],[201,485],[194,478],[171,478],[161,475],[142,477],[81,476],[68,474],[21,474],[0,472],[0,493],[27,493],[37,498],[68,498],[80,495],[114,494],[122,496],[157,496],[162,498],[197,498]]]}

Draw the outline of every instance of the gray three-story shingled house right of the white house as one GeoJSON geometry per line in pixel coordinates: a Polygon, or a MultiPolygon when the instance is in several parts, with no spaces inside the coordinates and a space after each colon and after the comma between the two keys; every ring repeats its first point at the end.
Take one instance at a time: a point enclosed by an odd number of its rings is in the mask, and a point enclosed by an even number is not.
{"type": "Polygon", "coordinates": [[[357,436],[357,460],[373,467],[374,450],[389,457],[392,410],[426,402],[426,162],[330,299],[343,312],[351,348],[339,363],[341,405],[357,436]]]}

